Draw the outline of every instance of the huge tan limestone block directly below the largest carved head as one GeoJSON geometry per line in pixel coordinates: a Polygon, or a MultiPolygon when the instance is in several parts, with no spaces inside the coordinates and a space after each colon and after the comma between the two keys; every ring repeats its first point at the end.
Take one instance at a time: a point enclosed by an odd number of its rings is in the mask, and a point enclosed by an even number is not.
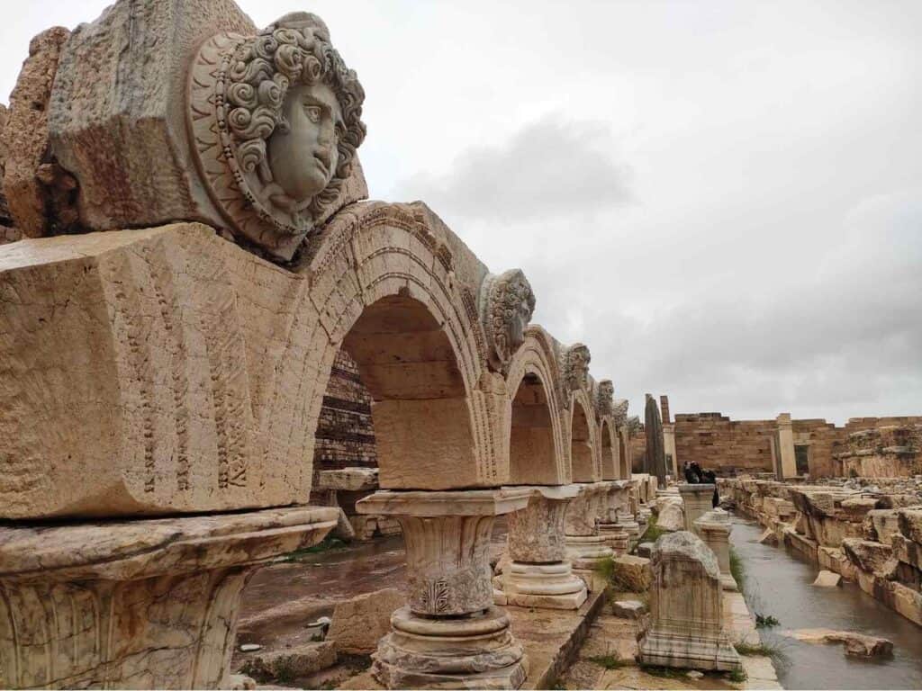
{"type": "Polygon", "coordinates": [[[0,247],[0,518],[307,498],[306,284],[195,223],[0,247]]]}

